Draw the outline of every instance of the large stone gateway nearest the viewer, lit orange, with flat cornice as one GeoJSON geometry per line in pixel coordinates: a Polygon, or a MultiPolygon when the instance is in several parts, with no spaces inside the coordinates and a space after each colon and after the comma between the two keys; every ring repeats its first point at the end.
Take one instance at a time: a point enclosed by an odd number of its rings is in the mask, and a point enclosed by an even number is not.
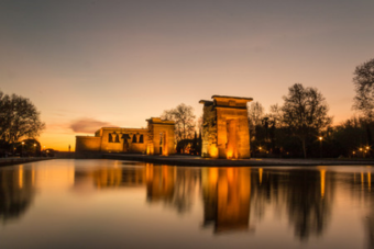
{"type": "Polygon", "coordinates": [[[250,129],[246,103],[251,98],[213,95],[200,100],[202,114],[202,157],[250,158],[250,129]]]}

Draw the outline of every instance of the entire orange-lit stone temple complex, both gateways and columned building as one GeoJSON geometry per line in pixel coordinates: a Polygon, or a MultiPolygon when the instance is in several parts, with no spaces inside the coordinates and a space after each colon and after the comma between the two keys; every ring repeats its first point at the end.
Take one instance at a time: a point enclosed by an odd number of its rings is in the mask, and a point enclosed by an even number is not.
{"type": "MultiPolygon", "coordinates": [[[[212,95],[204,104],[201,156],[250,158],[248,102],[252,98],[212,95]]],[[[131,152],[168,156],[176,152],[175,122],[151,117],[147,128],[102,127],[95,136],[76,136],[76,152],[131,152]]]]}

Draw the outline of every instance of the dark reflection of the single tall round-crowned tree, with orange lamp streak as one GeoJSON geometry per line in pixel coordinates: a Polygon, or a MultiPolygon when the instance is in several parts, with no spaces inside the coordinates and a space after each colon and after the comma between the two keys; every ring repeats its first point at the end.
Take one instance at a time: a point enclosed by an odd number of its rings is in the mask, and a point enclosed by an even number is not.
{"type": "Polygon", "coordinates": [[[289,222],[300,239],[321,235],[331,215],[332,178],[326,170],[289,171],[286,189],[289,222]]]}

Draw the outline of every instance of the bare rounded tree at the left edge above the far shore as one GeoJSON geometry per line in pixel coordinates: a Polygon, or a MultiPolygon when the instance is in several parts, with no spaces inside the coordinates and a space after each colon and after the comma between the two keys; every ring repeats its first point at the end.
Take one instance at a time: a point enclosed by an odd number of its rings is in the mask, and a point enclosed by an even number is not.
{"type": "Polygon", "coordinates": [[[16,143],[21,137],[36,137],[45,124],[35,105],[26,98],[0,91],[0,139],[16,143]]]}

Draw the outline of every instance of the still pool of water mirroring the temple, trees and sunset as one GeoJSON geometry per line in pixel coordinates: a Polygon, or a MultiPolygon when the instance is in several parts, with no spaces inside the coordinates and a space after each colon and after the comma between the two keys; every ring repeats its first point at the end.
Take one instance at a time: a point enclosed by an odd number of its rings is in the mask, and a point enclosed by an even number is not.
{"type": "Polygon", "coordinates": [[[374,248],[374,168],[0,168],[0,248],[374,248]]]}

